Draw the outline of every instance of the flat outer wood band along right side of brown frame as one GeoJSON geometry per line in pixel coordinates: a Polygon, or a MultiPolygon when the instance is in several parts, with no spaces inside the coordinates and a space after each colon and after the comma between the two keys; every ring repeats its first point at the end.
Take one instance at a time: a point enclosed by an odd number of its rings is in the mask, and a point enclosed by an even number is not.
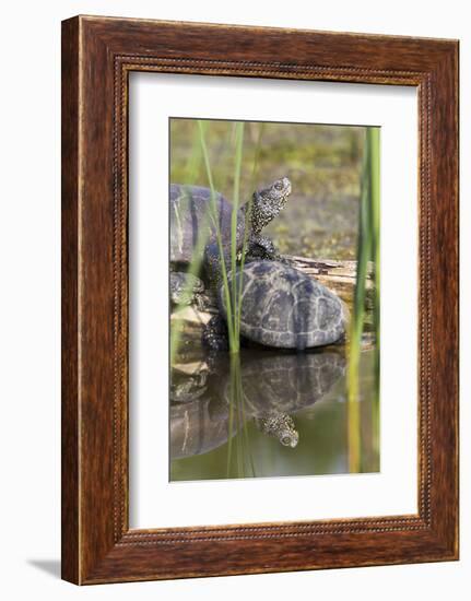
{"type": "Polygon", "coordinates": [[[459,554],[459,46],[433,73],[432,102],[432,399],[434,529],[450,559],[459,554]],[[437,377],[437,374],[439,375],[437,377]],[[438,399],[440,402],[438,402],[438,399]],[[439,517],[439,519],[437,519],[439,517]]]}

